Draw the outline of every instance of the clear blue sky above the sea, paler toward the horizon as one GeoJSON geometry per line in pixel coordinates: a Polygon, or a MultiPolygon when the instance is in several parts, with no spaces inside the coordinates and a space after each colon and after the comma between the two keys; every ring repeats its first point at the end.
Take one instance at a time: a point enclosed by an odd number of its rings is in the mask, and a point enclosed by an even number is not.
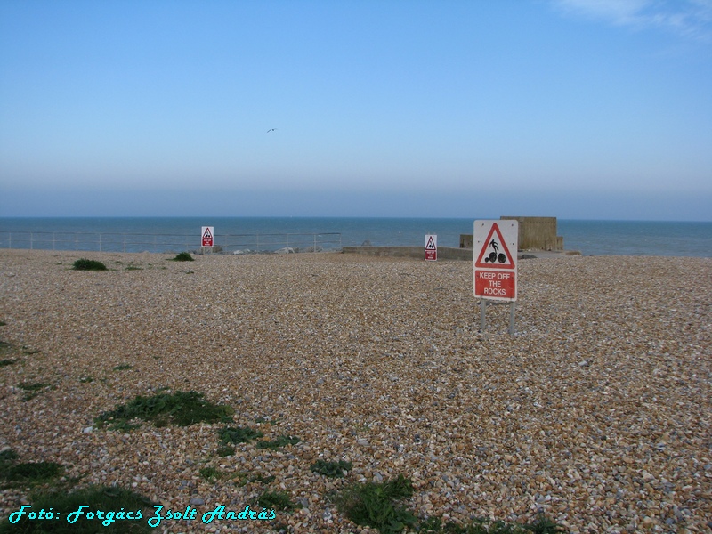
{"type": "Polygon", "coordinates": [[[710,221],[710,95],[712,0],[7,0],[0,216],[710,221]]]}

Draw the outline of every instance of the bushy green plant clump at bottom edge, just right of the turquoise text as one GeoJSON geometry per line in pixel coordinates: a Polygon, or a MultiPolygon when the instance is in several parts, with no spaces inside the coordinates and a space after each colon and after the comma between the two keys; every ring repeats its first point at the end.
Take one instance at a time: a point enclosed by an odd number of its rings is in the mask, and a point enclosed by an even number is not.
{"type": "Polygon", "coordinates": [[[380,484],[368,482],[345,488],[336,496],[336,506],[352,522],[391,534],[416,524],[416,516],[398,504],[412,495],[411,481],[399,474],[380,484]]]}

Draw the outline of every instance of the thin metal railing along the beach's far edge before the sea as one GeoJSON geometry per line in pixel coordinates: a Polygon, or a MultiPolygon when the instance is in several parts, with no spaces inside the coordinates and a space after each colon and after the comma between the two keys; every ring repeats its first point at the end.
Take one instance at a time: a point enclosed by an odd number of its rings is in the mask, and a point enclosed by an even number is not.
{"type": "MultiPolygon", "coordinates": [[[[214,253],[340,251],[340,232],[216,234],[214,253]]],[[[196,234],[134,234],[76,231],[0,231],[0,248],[99,252],[206,252],[196,234]]]]}

